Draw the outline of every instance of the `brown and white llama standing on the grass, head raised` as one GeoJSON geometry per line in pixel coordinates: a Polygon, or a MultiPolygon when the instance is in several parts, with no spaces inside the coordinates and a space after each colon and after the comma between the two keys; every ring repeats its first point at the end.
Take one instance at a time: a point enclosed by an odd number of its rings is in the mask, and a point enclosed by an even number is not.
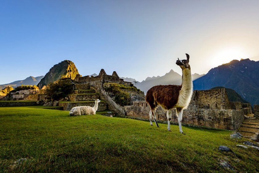
{"type": "Polygon", "coordinates": [[[178,116],[179,130],[182,130],[182,115],[183,109],[186,109],[191,101],[192,95],[192,80],[191,67],[189,65],[190,56],[186,53],[187,60],[178,60],[176,64],[182,68],[183,78],[182,85],[157,85],[150,88],[146,93],[146,102],[150,105],[149,119],[152,126],[152,117],[158,126],[156,120],[156,108],[160,105],[167,110],[168,131],[170,130],[171,109],[176,108],[176,115],[178,116]]]}

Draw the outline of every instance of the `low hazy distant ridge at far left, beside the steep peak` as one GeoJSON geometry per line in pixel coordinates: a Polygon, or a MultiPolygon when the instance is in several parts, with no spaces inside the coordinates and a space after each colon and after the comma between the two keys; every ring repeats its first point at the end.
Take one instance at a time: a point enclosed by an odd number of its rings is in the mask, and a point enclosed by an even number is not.
{"type": "Polygon", "coordinates": [[[1,89],[4,89],[8,86],[11,86],[13,88],[16,88],[18,86],[21,86],[22,84],[23,85],[37,85],[39,83],[39,81],[43,78],[44,76],[38,76],[38,77],[33,77],[33,76],[30,76],[30,77],[27,77],[26,79],[24,80],[16,80],[14,82],[11,82],[9,84],[1,84],[0,85],[0,90],[1,89]]]}

